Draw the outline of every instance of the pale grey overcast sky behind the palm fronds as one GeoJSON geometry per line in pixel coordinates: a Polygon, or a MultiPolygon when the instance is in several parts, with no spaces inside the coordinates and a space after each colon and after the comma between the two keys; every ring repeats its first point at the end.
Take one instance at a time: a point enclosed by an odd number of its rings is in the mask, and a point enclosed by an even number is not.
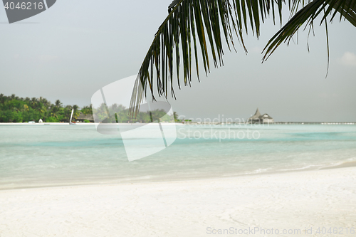
{"type": "MultiPolygon", "coordinates": [[[[58,0],[37,16],[9,24],[0,8],[0,93],[89,105],[105,85],[137,74],[171,0],[58,0]]],[[[356,120],[356,28],[329,24],[328,78],[325,26],[316,36],[283,45],[261,64],[261,51],[280,26],[270,20],[261,38],[246,37],[248,55],[225,47],[224,67],[169,100],[187,118],[248,118],[258,107],[276,121],[356,120]]],[[[237,41],[236,41],[237,42],[237,41]]],[[[237,43],[236,43],[237,45],[237,43]]],[[[203,75],[201,68],[201,75],[203,75]]]]}

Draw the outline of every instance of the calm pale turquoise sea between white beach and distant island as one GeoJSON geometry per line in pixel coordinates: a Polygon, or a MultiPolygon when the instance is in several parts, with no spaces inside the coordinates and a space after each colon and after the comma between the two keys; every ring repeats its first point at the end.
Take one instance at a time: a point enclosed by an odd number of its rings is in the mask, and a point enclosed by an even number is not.
{"type": "Polygon", "coordinates": [[[0,189],[231,177],[356,161],[356,125],[179,125],[177,135],[161,152],[129,162],[120,135],[101,135],[94,125],[0,125],[0,189]]]}

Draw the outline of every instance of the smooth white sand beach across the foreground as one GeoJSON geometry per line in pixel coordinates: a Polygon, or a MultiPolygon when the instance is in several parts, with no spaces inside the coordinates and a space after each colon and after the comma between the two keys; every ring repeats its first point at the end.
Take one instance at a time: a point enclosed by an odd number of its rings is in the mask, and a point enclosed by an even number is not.
{"type": "Polygon", "coordinates": [[[1,237],[356,236],[356,167],[2,190],[0,204],[1,237]]]}

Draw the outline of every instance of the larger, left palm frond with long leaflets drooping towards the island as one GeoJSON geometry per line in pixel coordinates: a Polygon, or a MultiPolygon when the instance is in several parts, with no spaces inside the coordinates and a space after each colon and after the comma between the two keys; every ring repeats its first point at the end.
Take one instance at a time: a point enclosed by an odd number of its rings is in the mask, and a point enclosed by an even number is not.
{"type": "MultiPolygon", "coordinates": [[[[281,12],[281,2],[278,11],[281,12]]],[[[210,72],[211,58],[214,67],[223,65],[223,43],[229,50],[232,46],[233,32],[244,46],[243,31],[251,28],[259,36],[261,20],[270,13],[273,0],[174,0],[169,5],[169,14],[153,39],[137,75],[137,83],[130,107],[130,112],[137,112],[138,105],[147,92],[167,98],[174,95],[174,70],[177,85],[190,85],[192,67],[197,70],[199,80],[199,57],[204,72],[210,72]],[[232,2],[232,5],[231,5],[232,2]],[[260,16],[261,14],[261,16],[260,16]],[[224,34],[224,40],[221,35],[224,34]],[[194,55],[194,61],[192,60],[194,55]],[[175,62],[174,62],[175,61],[175,62]],[[183,82],[179,77],[182,63],[183,82]]],[[[236,50],[236,49],[235,49],[236,50]]],[[[153,97],[155,100],[155,97],[153,97]]]]}

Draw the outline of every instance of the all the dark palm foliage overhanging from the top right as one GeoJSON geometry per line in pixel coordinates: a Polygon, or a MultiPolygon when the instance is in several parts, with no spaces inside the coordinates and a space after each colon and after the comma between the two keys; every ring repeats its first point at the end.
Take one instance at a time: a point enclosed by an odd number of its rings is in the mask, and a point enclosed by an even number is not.
{"type": "MultiPolygon", "coordinates": [[[[244,37],[251,30],[258,38],[261,24],[268,16],[272,16],[274,23],[278,20],[282,27],[263,49],[262,61],[267,60],[281,43],[289,43],[300,28],[313,32],[318,16],[321,19],[317,23],[325,25],[328,45],[328,22],[335,16],[356,26],[356,0],[174,0],[140,67],[131,98],[132,112],[138,111],[137,105],[145,93],[151,93],[154,99],[154,93],[165,98],[170,93],[175,98],[173,80],[177,80],[179,89],[181,83],[190,85],[192,66],[199,80],[199,57],[206,75],[211,59],[215,68],[223,65],[222,43],[226,41],[229,51],[236,51],[234,35],[247,53],[244,37]],[[290,19],[282,26],[282,9],[286,6],[290,19]],[[179,79],[180,63],[183,81],[179,79]]],[[[329,46],[327,48],[329,56],[329,46]]]]}

